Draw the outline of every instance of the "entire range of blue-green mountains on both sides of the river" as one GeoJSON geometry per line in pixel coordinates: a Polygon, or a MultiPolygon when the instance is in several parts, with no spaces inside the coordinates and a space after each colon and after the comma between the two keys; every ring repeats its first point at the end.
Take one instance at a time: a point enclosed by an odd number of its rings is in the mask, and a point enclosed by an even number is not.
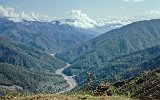
{"type": "MultiPolygon", "coordinates": [[[[113,26],[117,25],[121,26],[113,26]]],[[[1,17],[0,40],[0,95],[66,89],[67,81],[55,71],[68,62],[71,66],[63,73],[73,76],[77,87],[86,84],[90,72],[94,82],[104,80],[119,94],[158,98],[153,89],[159,93],[160,19],[116,29],[110,25],[83,29],[60,21],[14,22],[1,17]]]]}

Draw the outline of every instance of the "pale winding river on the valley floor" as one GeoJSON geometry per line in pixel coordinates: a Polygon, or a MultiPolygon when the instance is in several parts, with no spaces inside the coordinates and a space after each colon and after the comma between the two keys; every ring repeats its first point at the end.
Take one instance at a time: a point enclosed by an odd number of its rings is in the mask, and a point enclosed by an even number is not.
{"type": "MultiPolygon", "coordinates": [[[[51,54],[51,55],[54,56],[55,54],[51,54]]],[[[68,88],[66,88],[65,90],[61,90],[61,91],[57,92],[58,94],[59,94],[59,93],[69,92],[69,91],[71,91],[73,88],[75,88],[76,85],[77,85],[76,81],[73,79],[73,76],[67,76],[67,75],[65,75],[65,74],[63,73],[63,70],[64,70],[65,68],[68,68],[69,66],[71,66],[71,65],[66,62],[66,66],[65,66],[65,67],[60,68],[60,69],[57,69],[57,70],[55,71],[55,73],[56,73],[57,75],[61,75],[61,76],[67,81],[67,83],[69,84],[69,87],[68,87],[68,88]]]]}

